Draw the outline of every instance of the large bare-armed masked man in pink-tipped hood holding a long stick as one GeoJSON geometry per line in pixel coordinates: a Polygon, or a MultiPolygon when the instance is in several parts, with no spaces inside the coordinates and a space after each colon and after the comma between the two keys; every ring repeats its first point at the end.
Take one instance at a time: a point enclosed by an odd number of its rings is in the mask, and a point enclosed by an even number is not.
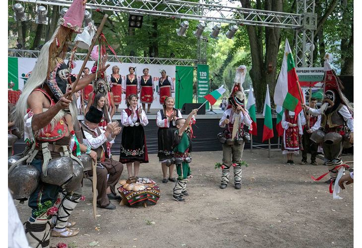
{"type": "MultiPolygon", "coordinates": [[[[25,224],[25,233],[31,247],[49,247],[50,222],[56,209],[47,209],[47,207],[56,202],[61,186],[73,177],[71,162],[70,167],[68,163],[57,164],[63,169],[61,173],[54,173],[54,162],[59,161],[61,156],[63,156],[61,159],[69,161],[66,154],[71,153],[69,151],[73,136],[71,131],[78,122],[75,101],[66,99],[69,96],[69,92],[66,93],[69,87],[69,71],[63,60],[72,34],[74,31],[81,31],[85,2],[74,0],[64,17],[60,18],[60,25],[41,49],[37,63],[15,107],[16,125],[20,130],[24,130],[24,140],[29,145],[29,153],[32,154],[29,159],[30,164],[39,171],[40,175],[36,189],[29,196],[28,204],[32,208],[32,215],[25,224]],[[62,147],[62,150],[59,147],[62,147]],[[51,160],[49,154],[52,155],[51,160]]],[[[105,64],[107,57],[102,60],[104,60],[102,64],[105,64]]],[[[108,66],[102,66],[99,72],[105,71],[108,66]]],[[[83,89],[94,78],[95,74],[81,78],[75,91],[83,89]]],[[[86,146],[79,145],[80,151],[85,152],[86,146]]],[[[19,179],[19,184],[21,183],[19,179]]],[[[67,207],[67,212],[73,210],[80,196],[79,193],[72,194],[72,202],[68,202],[71,207],[67,207]]],[[[58,214],[64,211],[65,208],[60,207],[58,214]]],[[[57,227],[56,231],[61,237],[77,234],[74,230],[67,229],[65,225],[67,225],[66,220],[57,227]]]]}

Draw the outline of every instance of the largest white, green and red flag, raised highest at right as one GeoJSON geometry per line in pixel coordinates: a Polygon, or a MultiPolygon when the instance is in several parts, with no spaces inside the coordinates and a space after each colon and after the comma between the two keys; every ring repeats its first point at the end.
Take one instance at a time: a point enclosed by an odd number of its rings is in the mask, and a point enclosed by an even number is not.
{"type": "Polygon", "coordinates": [[[284,58],[274,91],[274,103],[293,111],[298,116],[302,111],[299,78],[288,39],[285,41],[284,58]]]}

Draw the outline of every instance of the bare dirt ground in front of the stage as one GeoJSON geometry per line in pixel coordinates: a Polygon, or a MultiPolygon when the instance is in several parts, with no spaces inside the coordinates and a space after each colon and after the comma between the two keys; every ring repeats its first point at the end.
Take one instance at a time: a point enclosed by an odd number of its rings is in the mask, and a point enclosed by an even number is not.
{"type": "MultiPolygon", "coordinates": [[[[115,156],[117,159],[117,156],[115,156]]],[[[353,247],[353,185],[341,192],[343,200],[333,200],[328,186],[313,182],[310,175],[327,171],[323,165],[285,165],[281,151],[245,150],[242,188],[236,190],[233,180],[220,189],[222,152],[194,152],[190,164],[193,178],[187,184],[185,202],[172,199],[175,183],[161,183],[161,166],[156,154],[149,156],[140,175],[159,182],[161,197],[155,206],[116,210],[97,208],[97,222],[92,213],[90,181],[83,186],[84,202],[80,202],[70,220],[76,221],[80,233],[71,238],[51,238],[72,243],[77,248],[172,248],[172,247],[353,247]],[[98,227],[99,231],[95,230],[98,227]],[[93,243],[92,243],[93,242],[93,243]]],[[[353,160],[353,156],[343,159],[353,160]]],[[[322,160],[317,159],[319,164],[322,160]]],[[[233,172],[231,172],[231,175],[233,172]]],[[[127,177],[126,167],[121,179],[127,177]]],[[[119,186],[119,185],[118,185],[119,186]]],[[[30,208],[15,205],[21,221],[26,221],[30,208]]],[[[75,247],[73,246],[73,247],[75,247]]]]}

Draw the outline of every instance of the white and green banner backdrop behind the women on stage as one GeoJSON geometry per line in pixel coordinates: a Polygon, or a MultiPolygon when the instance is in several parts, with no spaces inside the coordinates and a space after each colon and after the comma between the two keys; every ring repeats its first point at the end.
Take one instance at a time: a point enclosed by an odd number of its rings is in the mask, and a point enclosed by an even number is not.
{"type": "MultiPolygon", "coordinates": [[[[15,86],[13,87],[14,90],[20,89],[22,90],[22,88],[24,87],[24,84],[26,83],[26,80],[29,78],[32,69],[34,68],[34,65],[36,63],[37,59],[36,58],[15,58],[15,57],[8,57],[8,82],[13,81],[15,83],[15,86]]],[[[67,62],[67,60],[65,60],[65,62],[67,62]]],[[[177,87],[176,87],[176,65],[162,65],[162,64],[136,64],[136,63],[119,63],[119,62],[107,62],[109,64],[111,64],[110,67],[108,67],[108,69],[106,70],[106,75],[111,75],[112,74],[112,66],[117,65],[118,67],[120,67],[120,74],[121,74],[121,78],[122,78],[122,82],[125,80],[126,75],[129,73],[128,71],[128,67],[129,66],[134,66],[135,67],[135,74],[137,75],[137,77],[141,77],[143,75],[142,70],[143,68],[148,68],[149,72],[148,74],[152,76],[153,78],[153,82],[155,85],[155,92],[153,94],[154,97],[154,101],[151,105],[151,109],[161,109],[162,105],[159,102],[159,95],[158,95],[158,80],[161,77],[161,73],[160,70],[164,69],[166,70],[166,74],[168,76],[170,76],[172,78],[173,84],[174,84],[174,92],[172,92],[172,96],[175,98],[176,96],[176,91],[177,91],[177,87]]],[[[75,68],[72,70],[72,74],[75,74],[75,76],[78,74],[80,67],[83,64],[83,61],[75,61],[75,68]]],[[[94,64],[94,61],[88,61],[86,64],[86,67],[89,68],[89,70],[92,69],[94,64]]],[[[179,66],[178,66],[179,67],[179,66]]],[[[180,66],[180,67],[189,67],[189,66],[180,66]]],[[[189,72],[190,69],[188,69],[187,73],[189,72]]],[[[181,76],[181,73],[179,73],[181,76]]],[[[182,73],[183,74],[183,73],[182,73]]],[[[193,73],[190,73],[191,75],[193,73]]],[[[193,75],[192,75],[193,76],[193,75]]],[[[189,85],[192,85],[192,79],[190,81],[190,76],[187,76],[185,78],[181,79],[181,83],[182,83],[182,87],[186,87],[186,89],[189,89],[189,85]],[[189,82],[190,81],[190,82],[189,82]]],[[[191,86],[192,89],[192,86],[191,86]]],[[[191,91],[192,94],[192,91],[191,91]]],[[[187,94],[180,94],[180,98],[182,99],[182,97],[184,95],[187,94]]],[[[189,94],[188,94],[189,95],[189,94]]],[[[187,101],[189,100],[189,96],[187,95],[187,101]]],[[[125,105],[125,101],[124,101],[125,95],[122,94],[122,101],[120,104],[120,109],[124,109],[126,108],[125,105]]],[[[181,102],[183,102],[184,100],[181,101],[180,99],[180,105],[181,102]]],[[[177,99],[176,99],[177,101],[177,99]]],[[[192,97],[191,97],[191,101],[192,102],[192,97]]],[[[182,105],[181,105],[182,107],[182,105]]],[[[180,108],[181,108],[180,107],[180,108]]]]}

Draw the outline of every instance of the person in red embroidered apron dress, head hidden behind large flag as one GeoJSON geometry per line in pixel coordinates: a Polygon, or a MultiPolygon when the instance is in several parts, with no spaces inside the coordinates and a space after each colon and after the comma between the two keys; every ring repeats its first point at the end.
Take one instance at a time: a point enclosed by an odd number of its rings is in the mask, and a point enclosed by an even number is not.
{"type": "Polygon", "coordinates": [[[287,165],[294,165],[293,155],[299,154],[302,150],[302,125],[306,124],[305,118],[300,113],[295,117],[293,111],[285,110],[282,118],[282,127],[284,128],[282,150],[287,154],[287,165]]]}

